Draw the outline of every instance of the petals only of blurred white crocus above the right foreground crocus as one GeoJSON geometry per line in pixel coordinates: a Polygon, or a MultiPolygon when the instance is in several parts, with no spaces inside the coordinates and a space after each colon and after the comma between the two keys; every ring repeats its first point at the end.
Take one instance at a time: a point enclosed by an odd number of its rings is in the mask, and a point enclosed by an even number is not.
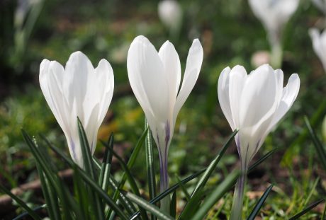
{"type": "Polygon", "coordinates": [[[299,0],[249,0],[255,16],[269,33],[279,35],[292,14],[298,8],[299,0]]]}

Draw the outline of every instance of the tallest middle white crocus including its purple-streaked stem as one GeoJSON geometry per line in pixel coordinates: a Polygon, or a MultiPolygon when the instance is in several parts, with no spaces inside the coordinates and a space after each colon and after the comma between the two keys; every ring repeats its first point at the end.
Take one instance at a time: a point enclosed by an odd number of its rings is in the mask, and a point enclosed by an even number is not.
{"type": "Polygon", "coordinates": [[[169,185],[167,154],[176,116],[198,79],[202,62],[203,47],[196,39],[193,40],[189,50],[184,79],[179,91],[181,66],[179,55],[171,42],[165,42],[157,52],[146,37],[138,36],[128,51],[130,86],[145,112],[159,150],[161,192],[169,185]]]}

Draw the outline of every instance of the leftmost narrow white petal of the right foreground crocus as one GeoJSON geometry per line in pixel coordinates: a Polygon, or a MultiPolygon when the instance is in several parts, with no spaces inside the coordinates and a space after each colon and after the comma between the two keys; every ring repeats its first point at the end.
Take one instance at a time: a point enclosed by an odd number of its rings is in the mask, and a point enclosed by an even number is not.
{"type": "Polygon", "coordinates": [[[225,115],[227,122],[229,122],[232,130],[235,129],[235,125],[232,119],[232,112],[230,106],[229,97],[229,83],[230,83],[230,67],[226,67],[218,78],[218,101],[220,102],[220,108],[222,108],[223,114],[225,115]]]}

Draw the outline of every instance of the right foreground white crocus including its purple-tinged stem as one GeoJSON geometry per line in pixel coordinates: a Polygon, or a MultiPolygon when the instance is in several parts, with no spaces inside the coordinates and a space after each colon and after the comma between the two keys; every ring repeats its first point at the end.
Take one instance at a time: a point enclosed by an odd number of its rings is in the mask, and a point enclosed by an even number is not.
{"type": "Polygon", "coordinates": [[[225,68],[218,79],[218,100],[235,136],[241,173],[235,189],[231,219],[241,219],[243,189],[247,168],[264,139],[291,108],[300,87],[298,74],[292,74],[283,88],[283,71],[269,64],[249,75],[243,66],[225,68]]]}

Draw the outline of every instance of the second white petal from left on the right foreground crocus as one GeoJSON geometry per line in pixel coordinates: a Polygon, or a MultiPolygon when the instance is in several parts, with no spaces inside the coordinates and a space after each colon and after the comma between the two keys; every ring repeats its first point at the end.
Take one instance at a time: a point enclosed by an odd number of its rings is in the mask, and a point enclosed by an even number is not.
{"type": "Polygon", "coordinates": [[[243,66],[233,67],[230,71],[229,81],[229,98],[233,125],[234,128],[240,128],[240,98],[242,95],[242,88],[247,81],[247,71],[245,68],[243,66]]]}

